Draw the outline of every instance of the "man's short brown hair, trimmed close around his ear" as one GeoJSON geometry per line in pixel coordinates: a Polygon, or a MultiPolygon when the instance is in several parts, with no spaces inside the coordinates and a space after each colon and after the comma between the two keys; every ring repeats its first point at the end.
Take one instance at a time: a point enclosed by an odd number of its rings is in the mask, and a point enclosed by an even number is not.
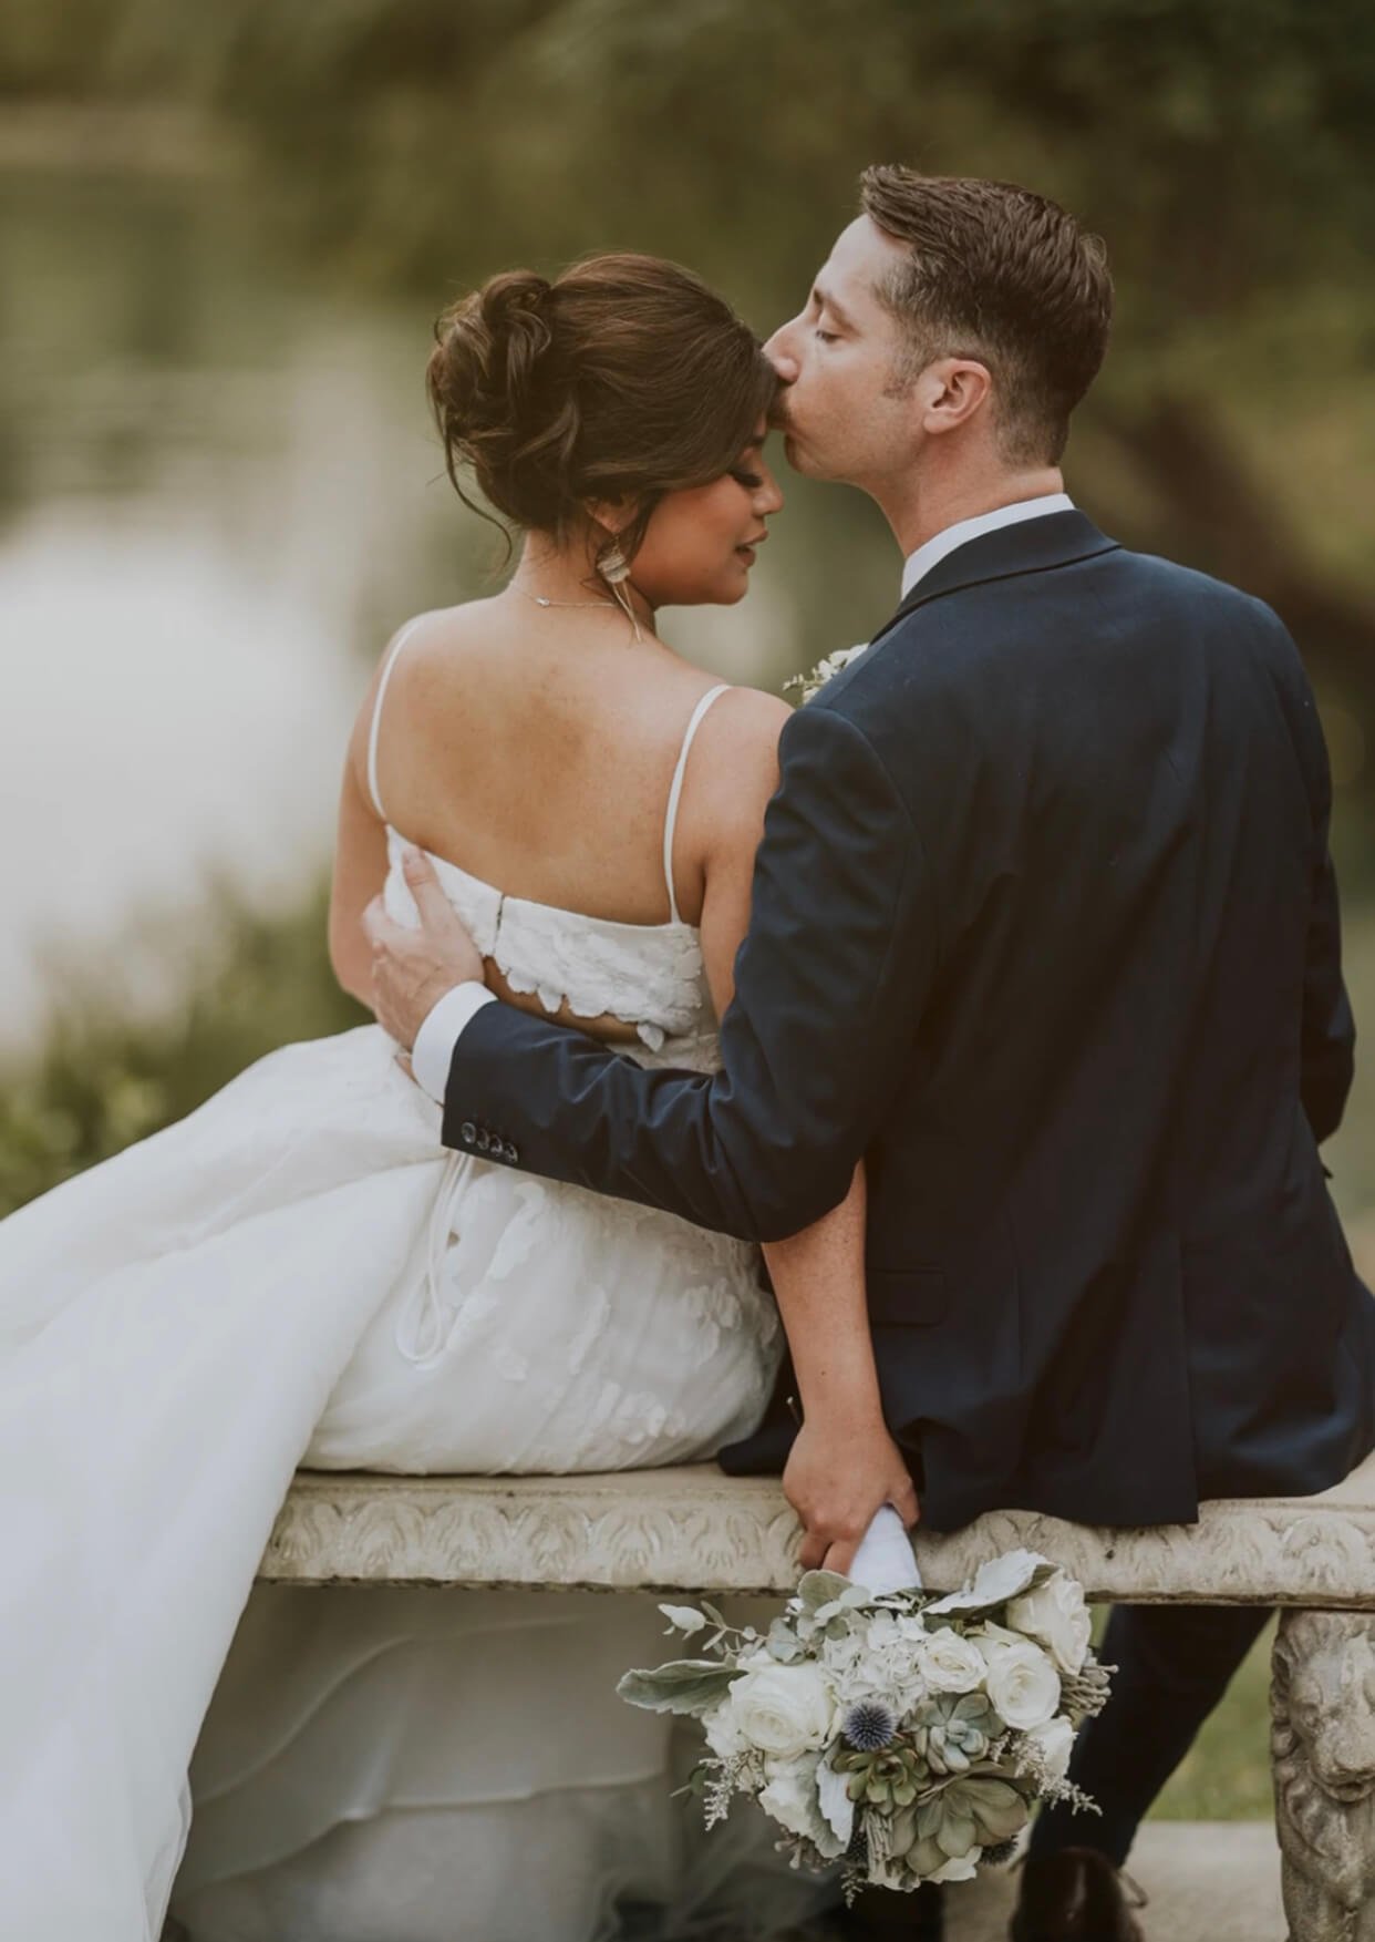
{"type": "Polygon", "coordinates": [[[907,245],[878,291],[907,338],[899,381],[936,357],[985,363],[1006,458],[1055,464],[1107,350],[1113,280],[1101,239],[1016,183],[891,163],[864,171],[860,204],[907,245]]]}

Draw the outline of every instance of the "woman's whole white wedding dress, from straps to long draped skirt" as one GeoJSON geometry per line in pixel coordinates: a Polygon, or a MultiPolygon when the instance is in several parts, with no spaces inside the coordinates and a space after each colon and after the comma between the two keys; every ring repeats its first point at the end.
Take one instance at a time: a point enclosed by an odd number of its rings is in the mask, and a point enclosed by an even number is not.
{"type": "MultiPolygon", "coordinates": [[[[513,988],[713,1064],[672,868],[637,926],[435,862],[513,988]]],[[[0,1225],[0,1936],[155,1942],[173,1878],[194,1942],[600,1942],[618,1899],[701,1934],[721,1874],[740,1934],[816,1905],[761,1816],[703,1845],[668,1800],[682,1746],[614,1697],[670,1651],[653,1598],[252,1590],[297,1464],[668,1464],[763,1410],[754,1249],[447,1154],[439,1117],[369,1025],[0,1225]]]]}

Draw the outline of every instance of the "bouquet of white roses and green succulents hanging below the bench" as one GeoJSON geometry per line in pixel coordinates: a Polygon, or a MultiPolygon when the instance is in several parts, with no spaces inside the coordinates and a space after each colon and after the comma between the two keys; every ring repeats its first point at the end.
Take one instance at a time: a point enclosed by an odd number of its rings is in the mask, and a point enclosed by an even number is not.
{"type": "Polygon", "coordinates": [[[1035,1552],[946,1598],[808,1571],[767,1635],[705,1600],[660,1610],[670,1631],[707,1633],[699,1657],[627,1672],[620,1695],[701,1721],[691,1791],[709,1827],[752,1794],[794,1868],[843,1862],[847,1901],[1010,1858],[1037,1798],[1093,1808],[1066,1769],[1107,1672],[1082,1587],[1035,1552]]]}

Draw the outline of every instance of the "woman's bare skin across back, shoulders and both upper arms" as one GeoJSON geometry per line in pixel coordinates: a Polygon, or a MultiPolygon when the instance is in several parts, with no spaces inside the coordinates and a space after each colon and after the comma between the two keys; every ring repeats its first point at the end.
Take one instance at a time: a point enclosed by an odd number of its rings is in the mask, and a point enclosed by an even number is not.
{"type": "MultiPolygon", "coordinates": [[[[408,631],[377,711],[361,711],[344,785],[332,909],[340,979],[365,996],[355,919],[386,870],[385,823],[507,897],[620,924],[672,919],[664,818],[697,703],[717,686],[610,608],[540,608],[515,590],[425,616],[408,631]]],[[[748,926],[763,804],[787,709],[728,689],[693,738],[672,845],[678,915],[701,924],[717,1008],[748,926]]],[[[487,983],[526,1008],[538,998],[487,983]]],[[[565,1008],[563,1016],[575,1016],[565,1008]]],[[[577,1018],[585,1029],[629,1027],[577,1018]]]]}

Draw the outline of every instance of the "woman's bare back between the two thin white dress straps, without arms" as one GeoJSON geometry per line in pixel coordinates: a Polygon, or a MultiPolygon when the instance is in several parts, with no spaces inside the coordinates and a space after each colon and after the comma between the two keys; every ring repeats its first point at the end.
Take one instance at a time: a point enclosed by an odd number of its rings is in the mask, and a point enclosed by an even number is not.
{"type": "MultiPolygon", "coordinates": [[[[715,684],[618,608],[482,600],[423,621],[379,740],[392,825],[513,897],[629,924],[668,921],[660,831],[684,728],[715,684]]],[[[695,750],[709,759],[709,730],[695,750]]],[[[693,775],[693,785],[697,775],[693,775]]],[[[684,788],[684,835],[691,798],[684,788]]],[[[699,854],[676,874],[701,911],[699,854]]]]}

